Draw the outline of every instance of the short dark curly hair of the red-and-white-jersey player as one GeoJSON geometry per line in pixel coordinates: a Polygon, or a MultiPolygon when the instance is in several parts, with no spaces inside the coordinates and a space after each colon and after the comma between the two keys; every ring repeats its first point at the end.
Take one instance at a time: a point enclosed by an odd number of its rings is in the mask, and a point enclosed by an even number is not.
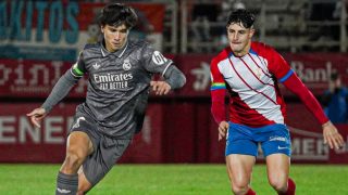
{"type": "Polygon", "coordinates": [[[250,28],[253,25],[254,15],[247,10],[239,9],[232,11],[227,18],[227,25],[229,26],[232,23],[241,24],[245,28],[250,28]]]}

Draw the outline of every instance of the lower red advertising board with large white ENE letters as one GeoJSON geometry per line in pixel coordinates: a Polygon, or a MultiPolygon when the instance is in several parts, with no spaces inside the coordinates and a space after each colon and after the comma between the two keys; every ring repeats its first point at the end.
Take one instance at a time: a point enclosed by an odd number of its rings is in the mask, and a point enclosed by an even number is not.
{"type": "MultiPolygon", "coordinates": [[[[59,104],[37,129],[26,113],[39,104],[2,104],[0,113],[1,162],[62,162],[66,132],[77,104],[59,104]]],[[[160,162],[162,160],[162,106],[151,104],[141,133],[133,140],[123,162],[160,162]]]]}

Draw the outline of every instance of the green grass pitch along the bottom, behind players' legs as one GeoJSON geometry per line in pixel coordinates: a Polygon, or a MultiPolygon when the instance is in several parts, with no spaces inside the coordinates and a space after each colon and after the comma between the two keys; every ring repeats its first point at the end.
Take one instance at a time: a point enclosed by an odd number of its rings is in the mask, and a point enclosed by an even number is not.
{"type": "MultiPolygon", "coordinates": [[[[59,165],[0,164],[0,194],[54,194],[59,165]]],[[[290,177],[299,195],[348,195],[348,166],[293,165],[290,177]]],[[[253,169],[258,195],[275,192],[268,184],[265,167],[253,169]]],[[[224,165],[117,165],[88,194],[100,195],[228,195],[224,165]]]]}

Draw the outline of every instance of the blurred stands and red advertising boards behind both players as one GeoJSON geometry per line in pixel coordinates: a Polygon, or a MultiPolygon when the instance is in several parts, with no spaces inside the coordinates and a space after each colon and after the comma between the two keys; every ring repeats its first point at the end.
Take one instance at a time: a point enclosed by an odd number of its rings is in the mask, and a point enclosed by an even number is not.
{"type": "MultiPolygon", "coordinates": [[[[100,34],[97,15],[108,0],[0,1],[0,162],[62,162],[65,135],[87,77],[35,129],[26,114],[40,106],[100,34]]],[[[122,1],[117,1],[122,2],[122,1]]],[[[210,114],[210,61],[227,44],[226,16],[246,8],[257,15],[253,40],[273,46],[326,109],[333,73],[348,82],[346,0],[126,1],[139,17],[132,38],[146,39],[185,73],[187,84],[151,95],[141,133],[121,162],[224,162],[210,114]]],[[[299,99],[282,88],[293,136],[293,162],[347,164],[348,144],[330,151],[321,127],[299,99]]],[[[335,88],[336,89],[336,88],[335,88]]],[[[347,103],[338,105],[347,115],[347,103]]],[[[338,110],[337,110],[338,112],[338,110]]],[[[348,125],[337,122],[347,142],[348,125]]],[[[262,160],[262,153],[260,153],[262,160]]]]}

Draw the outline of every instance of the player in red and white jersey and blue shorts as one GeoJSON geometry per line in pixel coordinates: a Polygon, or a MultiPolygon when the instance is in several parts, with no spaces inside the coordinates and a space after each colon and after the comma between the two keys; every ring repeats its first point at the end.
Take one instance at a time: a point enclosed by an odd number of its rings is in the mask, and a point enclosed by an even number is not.
{"type": "Polygon", "coordinates": [[[253,14],[246,10],[234,11],[227,18],[229,46],[211,61],[211,112],[219,125],[219,140],[226,138],[226,167],[233,193],[256,194],[250,179],[261,144],[269,183],[278,194],[290,195],[296,190],[288,177],[291,142],[277,83],[300,98],[322,125],[324,142],[331,148],[343,146],[344,140],[282,55],[264,43],[251,41],[253,22],[253,14]]]}

